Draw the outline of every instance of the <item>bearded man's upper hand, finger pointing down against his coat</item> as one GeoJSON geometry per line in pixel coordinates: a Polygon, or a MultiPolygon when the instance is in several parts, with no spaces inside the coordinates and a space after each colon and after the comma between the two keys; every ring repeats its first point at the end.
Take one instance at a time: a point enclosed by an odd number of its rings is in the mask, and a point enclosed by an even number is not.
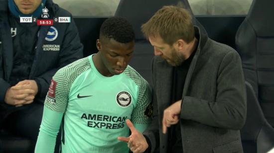
{"type": "Polygon", "coordinates": [[[179,122],[179,114],[181,112],[182,100],[176,101],[163,111],[162,130],[166,133],[167,127],[179,122]]]}

